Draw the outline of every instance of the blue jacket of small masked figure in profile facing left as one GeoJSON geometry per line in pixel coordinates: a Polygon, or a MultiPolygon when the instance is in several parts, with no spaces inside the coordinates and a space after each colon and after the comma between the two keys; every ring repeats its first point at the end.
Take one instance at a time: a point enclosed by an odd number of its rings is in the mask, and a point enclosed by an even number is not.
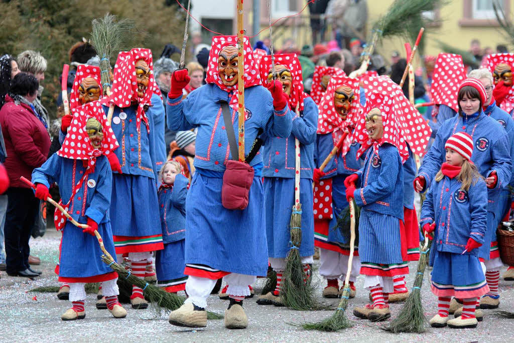
{"type": "Polygon", "coordinates": [[[378,155],[368,149],[357,175],[361,183],[354,192],[357,206],[403,220],[403,167],[395,146],[384,143],[378,155]]]}

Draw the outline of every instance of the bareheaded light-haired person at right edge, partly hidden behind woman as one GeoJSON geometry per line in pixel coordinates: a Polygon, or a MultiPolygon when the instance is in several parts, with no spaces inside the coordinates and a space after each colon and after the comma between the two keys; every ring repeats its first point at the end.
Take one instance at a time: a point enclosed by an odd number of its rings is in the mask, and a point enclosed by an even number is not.
{"type": "MultiPolygon", "coordinates": [[[[514,121],[510,115],[498,107],[494,96],[493,96],[493,78],[491,72],[486,69],[475,69],[471,70],[469,77],[480,80],[487,93],[487,100],[484,103],[484,113],[497,120],[507,132],[510,147],[510,156],[514,156],[514,121]]],[[[500,222],[508,221],[510,216],[511,198],[510,198],[510,187],[514,186],[514,177],[511,176],[509,184],[505,184],[500,190],[500,198],[497,211],[494,213],[494,227],[497,227],[500,222]]],[[[500,268],[503,266],[503,262],[500,258],[500,250],[498,248],[498,241],[496,236],[496,230],[492,232],[491,238],[491,250],[488,261],[484,261],[486,266],[485,278],[489,285],[490,291],[480,301],[480,306],[483,309],[497,308],[500,303],[500,294],[498,293],[498,282],[500,280],[500,268]]],[[[507,269],[508,275],[514,276],[514,267],[510,266],[507,269]]]]}

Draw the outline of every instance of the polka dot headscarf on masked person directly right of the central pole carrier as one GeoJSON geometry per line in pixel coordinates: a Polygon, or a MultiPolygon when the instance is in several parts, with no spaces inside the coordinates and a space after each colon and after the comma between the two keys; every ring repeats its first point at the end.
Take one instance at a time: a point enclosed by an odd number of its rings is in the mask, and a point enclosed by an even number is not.
{"type": "MultiPolygon", "coordinates": [[[[300,104],[299,111],[303,111],[303,99],[308,95],[303,92],[302,66],[296,53],[283,53],[275,55],[275,65],[281,64],[291,71],[291,94],[289,95],[289,107],[295,111],[300,104]]],[[[264,86],[268,86],[268,74],[271,71],[271,56],[264,56],[260,65],[261,80],[264,86]]]]}

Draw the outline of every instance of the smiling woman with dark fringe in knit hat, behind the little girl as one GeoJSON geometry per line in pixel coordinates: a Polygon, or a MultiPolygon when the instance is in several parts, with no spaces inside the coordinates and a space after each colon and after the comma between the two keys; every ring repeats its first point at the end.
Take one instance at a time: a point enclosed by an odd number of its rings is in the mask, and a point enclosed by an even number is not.
{"type": "MultiPolygon", "coordinates": [[[[458,115],[446,120],[438,129],[434,143],[424,156],[418,175],[414,179],[414,188],[416,192],[423,192],[431,186],[440,165],[445,161],[445,144],[450,136],[458,132],[465,132],[471,136],[471,161],[485,178],[487,185],[487,230],[479,249],[479,257],[485,261],[491,256],[491,239],[498,223],[495,220],[495,213],[500,205],[501,190],[504,185],[508,185],[512,174],[509,138],[497,120],[485,115],[482,107],[487,102],[487,91],[480,80],[465,79],[458,88],[457,102],[458,115]]],[[[452,300],[450,313],[454,313],[458,308],[460,305],[452,300]]]]}

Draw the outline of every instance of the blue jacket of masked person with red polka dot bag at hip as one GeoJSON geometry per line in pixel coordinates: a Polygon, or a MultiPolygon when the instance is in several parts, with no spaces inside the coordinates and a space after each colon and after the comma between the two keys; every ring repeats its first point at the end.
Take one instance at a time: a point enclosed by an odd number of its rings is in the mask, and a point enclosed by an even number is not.
{"type": "MultiPolygon", "coordinates": [[[[316,168],[319,168],[323,164],[323,161],[331,153],[336,144],[337,142],[334,141],[332,133],[317,135],[316,149],[314,150],[314,163],[316,164],[316,168]]],[[[351,175],[361,169],[361,160],[355,159],[359,147],[359,143],[354,142],[346,155],[342,156],[341,153],[338,153],[325,166],[323,170],[325,175],[323,175],[321,179],[331,178],[336,175],[351,175]]]]}

